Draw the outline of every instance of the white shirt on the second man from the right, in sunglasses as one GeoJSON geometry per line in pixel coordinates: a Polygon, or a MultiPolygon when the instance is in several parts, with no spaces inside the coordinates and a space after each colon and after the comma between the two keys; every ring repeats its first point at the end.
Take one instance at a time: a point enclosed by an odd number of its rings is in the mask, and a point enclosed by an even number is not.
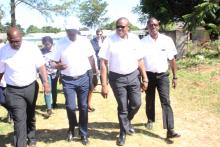
{"type": "Polygon", "coordinates": [[[138,60],[143,58],[140,40],[131,33],[127,39],[120,38],[116,33],[107,37],[98,55],[108,61],[109,71],[118,74],[135,71],[138,68],[138,60]]]}

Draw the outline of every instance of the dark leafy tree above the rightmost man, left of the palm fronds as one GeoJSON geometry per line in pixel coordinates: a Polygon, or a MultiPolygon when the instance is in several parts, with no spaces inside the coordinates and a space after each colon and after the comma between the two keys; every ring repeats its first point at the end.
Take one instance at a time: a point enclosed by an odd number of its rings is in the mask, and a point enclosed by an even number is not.
{"type": "Polygon", "coordinates": [[[183,21],[182,16],[193,11],[199,0],[141,0],[136,12],[156,17],[162,24],[183,21]],[[140,11],[138,11],[140,9],[140,11]]]}

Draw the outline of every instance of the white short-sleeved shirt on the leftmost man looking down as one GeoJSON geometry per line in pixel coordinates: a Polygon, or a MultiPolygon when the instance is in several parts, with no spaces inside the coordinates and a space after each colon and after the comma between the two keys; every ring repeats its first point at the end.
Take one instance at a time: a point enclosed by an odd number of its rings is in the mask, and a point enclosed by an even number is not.
{"type": "Polygon", "coordinates": [[[37,68],[45,61],[37,46],[22,41],[18,50],[6,44],[0,50],[0,73],[4,73],[7,84],[23,87],[37,79],[37,68]]]}

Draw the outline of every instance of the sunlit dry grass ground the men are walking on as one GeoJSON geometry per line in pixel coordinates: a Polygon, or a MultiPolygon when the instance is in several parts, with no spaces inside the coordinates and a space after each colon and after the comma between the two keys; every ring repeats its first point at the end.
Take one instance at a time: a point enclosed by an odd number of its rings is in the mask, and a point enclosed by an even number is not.
{"type": "MultiPolygon", "coordinates": [[[[177,88],[171,90],[171,104],[174,111],[175,129],[182,136],[165,140],[166,130],[162,128],[161,106],[156,99],[156,122],[153,130],[144,127],[146,123],[145,99],[133,119],[136,133],[127,136],[125,147],[217,147],[220,146],[220,64],[197,65],[178,70],[177,88]],[[169,144],[171,143],[171,144],[169,144]]],[[[89,140],[91,147],[114,147],[118,136],[117,105],[112,92],[108,99],[100,95],[100,85],[93,94],[95,112],[89,113],[89,140]]],[[[59,86],[61,89],[61,85],[59,86]]],[[[67,115],[62,92],[58,94],[59,108],[45,118],[45,103],[40,90],[37,101],[37,147],[80,147],[77,136],[67,142],[67,115]]],[[[13,141],[13,126],[5,120],[7,113],[0,107],[0,147],[10,147],[13,141]]]]}

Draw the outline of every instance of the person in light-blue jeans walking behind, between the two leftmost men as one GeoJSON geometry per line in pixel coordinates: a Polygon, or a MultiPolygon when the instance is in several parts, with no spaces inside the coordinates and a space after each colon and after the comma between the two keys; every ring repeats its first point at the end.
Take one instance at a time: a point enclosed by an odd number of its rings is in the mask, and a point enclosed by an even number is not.
{"type": "Polygon", "coordinates": [[[46,69],[48,73],[48,82],[51,87],[51,93],[46,95],[44,94],[45,103],[47,106],[47,114],[50,116],[52,114],[52,103],[53,107],[57,107],[57,81],[58,81],[58,71],[53,67],[53,56],[54,56],[54,47],[53,39],[50,36],[45,36],[42,38],[43,48],[41,53],[46,62],[46,69]],[[53,100],[52,100],[53,98],[53,100]]]}

